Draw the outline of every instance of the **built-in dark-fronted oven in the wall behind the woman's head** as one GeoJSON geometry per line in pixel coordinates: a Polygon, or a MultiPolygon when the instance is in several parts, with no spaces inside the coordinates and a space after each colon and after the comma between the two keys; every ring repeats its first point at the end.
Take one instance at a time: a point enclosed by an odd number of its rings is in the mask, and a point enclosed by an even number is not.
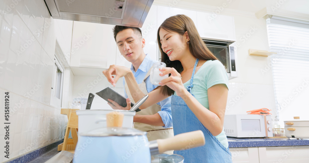
{"type": "Polygon", "coordinates": [[[229,79],[237,77],[235,41],[202,38],[207,48],[218,58],[225,67],[229,79]]]}

